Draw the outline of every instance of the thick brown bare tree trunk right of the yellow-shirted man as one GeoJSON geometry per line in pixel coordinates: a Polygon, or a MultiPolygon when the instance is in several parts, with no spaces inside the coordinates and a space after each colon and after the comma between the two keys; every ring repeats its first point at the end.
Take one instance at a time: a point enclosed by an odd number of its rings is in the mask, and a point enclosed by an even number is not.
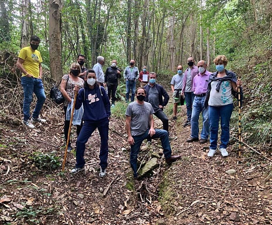
{"type": "Polygon", "coordinates": [[[51,77],[55,80],[62,77],[60,10],[60,0],[49,0],[49,56],[51,77]]]}

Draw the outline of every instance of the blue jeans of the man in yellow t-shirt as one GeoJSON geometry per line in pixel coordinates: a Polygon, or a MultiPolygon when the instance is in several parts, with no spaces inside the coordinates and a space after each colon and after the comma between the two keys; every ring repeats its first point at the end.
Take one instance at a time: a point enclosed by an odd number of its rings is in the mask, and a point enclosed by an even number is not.
{"type": "Polygon", "coordinates": [[[27,121],[30,118],[30,104],[33,100],[33,92],[37,97],[37,104],[33,111],[32,117],[34,119],[39,117],[40,111],[43,107],[43,103],[45,102],[45,93],[43,87],[43,81],[38,78],[33,77],[22,77],[21,83],[24,90],[24,102],[23,102],[23,114],[24,121],[27,121]]]}

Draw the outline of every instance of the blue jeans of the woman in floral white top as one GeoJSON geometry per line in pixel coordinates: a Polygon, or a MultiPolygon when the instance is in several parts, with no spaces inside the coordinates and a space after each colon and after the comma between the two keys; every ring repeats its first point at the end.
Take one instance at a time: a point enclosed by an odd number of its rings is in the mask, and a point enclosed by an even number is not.
{"type": "Polygon", "coordinates": [[[221,123],[220,148],[227,148],[227,143],[230,140],[230,117],[232,110],[233,104],[209,106],[210,149],[216,150],[217,148],[219,117],[221,123]]]}

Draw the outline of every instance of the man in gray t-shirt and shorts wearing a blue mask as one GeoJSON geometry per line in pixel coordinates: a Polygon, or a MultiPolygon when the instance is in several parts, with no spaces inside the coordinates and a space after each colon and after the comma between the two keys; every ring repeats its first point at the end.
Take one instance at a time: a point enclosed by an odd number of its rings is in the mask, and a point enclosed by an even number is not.
{"type": "Polygon", "coordinates": [[[173,92],[173,103],[174,103],[174,107],[173,107],[173,120],[177,120],[177,109],[178,109],[178,104],[181,102],[181,98],[183,98],[183,96],[181,95],[181,90],[182,90],[182,82],[183,82],[183,67],[181,65],[179,65],[177,67],[177,74],[173,76],[172,80],[171,80],[171,90],[173,92]]]}

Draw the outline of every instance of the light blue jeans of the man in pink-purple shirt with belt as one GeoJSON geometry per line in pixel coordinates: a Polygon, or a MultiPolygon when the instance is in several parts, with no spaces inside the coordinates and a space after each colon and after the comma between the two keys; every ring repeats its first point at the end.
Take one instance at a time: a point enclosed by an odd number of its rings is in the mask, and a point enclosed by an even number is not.
{"type": "Polygon", "coordinates": [[[203,128],[200,134],[200,138],[208,139],[209,137],[209,111],[208,108],[204,107],[205,96],[194,98],[193,102],[193,110],[192,110],[192,118],[191,118],[191,137],[198,138],[199,127],[198,127],[198,119],[200,112],[202,112],[203,118],[203,128]]]}

